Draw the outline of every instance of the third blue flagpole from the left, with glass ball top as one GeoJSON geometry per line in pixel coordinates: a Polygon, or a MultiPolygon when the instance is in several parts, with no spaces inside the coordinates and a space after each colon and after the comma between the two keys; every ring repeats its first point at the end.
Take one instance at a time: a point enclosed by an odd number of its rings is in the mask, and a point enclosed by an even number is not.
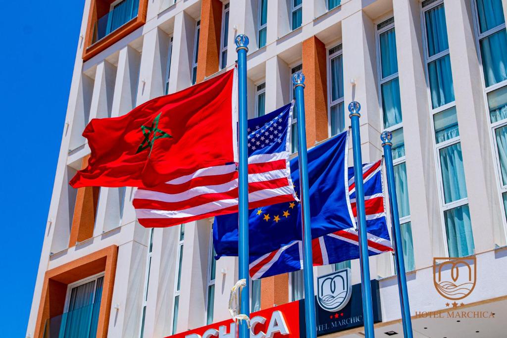
{"type": "Polygon", "coordinates": [[[361,156],[361,135],[359,131],[359,110],[357,101],[350,102],[348,109],[352,124],[352,151],[354,153],[355,200],[357,207],[357,232],[359,235],[359,265],[361,268],[361,294],[363,295],[363,318],[366,338],[375,337],[373,328],[372,286],[370,284],[370,262],[368,237],[366,233],[365,192],[363,190],[363,159],[361,156]]]}

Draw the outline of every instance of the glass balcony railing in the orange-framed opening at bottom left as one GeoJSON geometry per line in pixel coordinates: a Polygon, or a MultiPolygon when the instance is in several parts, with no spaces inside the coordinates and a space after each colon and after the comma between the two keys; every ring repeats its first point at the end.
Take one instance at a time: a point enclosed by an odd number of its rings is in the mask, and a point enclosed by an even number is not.
{"type": "Polygon", "coordinates": [[[95,338],[100,302],[50,318],[44,338],[95,338]]]}

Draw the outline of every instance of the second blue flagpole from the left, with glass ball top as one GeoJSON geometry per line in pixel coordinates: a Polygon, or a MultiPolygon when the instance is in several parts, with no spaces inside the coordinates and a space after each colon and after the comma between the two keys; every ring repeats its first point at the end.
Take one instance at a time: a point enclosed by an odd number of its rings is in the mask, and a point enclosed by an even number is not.
{"type": "Polygon", "coordinates": [[[301,191],[301,213],[303,220],[303,276],[305,284],[306,338],[316,338],[315,296],[313,292],[312,232],[310,226],[310,193],[308,190],[308,159],[306,154],[305,130],[305,76],[298,71],[292,77],[296,91],[296,110],[298,118],[298,157],[301,191]]]}

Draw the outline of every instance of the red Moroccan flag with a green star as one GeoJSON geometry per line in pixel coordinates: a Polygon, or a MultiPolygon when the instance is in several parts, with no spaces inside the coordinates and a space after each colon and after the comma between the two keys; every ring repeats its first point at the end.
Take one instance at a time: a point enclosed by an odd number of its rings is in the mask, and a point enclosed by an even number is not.
{"type": "Polygon", "coordinates": [[[83,132],[91,149],[88,166],[70,185],[155,186],[234,162],[234,78],[230,70],[124,116],[93,119],[83,132]]]}

